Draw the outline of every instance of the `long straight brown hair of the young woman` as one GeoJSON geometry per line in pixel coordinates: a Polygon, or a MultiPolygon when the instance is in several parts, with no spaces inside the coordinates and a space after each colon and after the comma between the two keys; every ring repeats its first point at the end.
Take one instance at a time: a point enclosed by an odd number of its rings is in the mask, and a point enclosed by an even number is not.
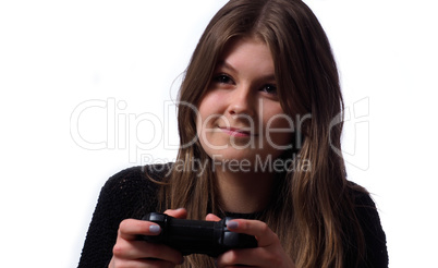
{"type": "MultiPolygon", "coordinates": [[[[192,219],[204,219],[208,212],[223,215],[215,173],[211,168],[200,167],[209,167],[210,162],[196,138],[195,108],[224,47],[243,37],[266,42],[284,112],[306,118],[297,130],[296,167],[293,172],[279,174],[273,199],[259,219],[278,234],[296,267],[343,267],[346,252],[351,252],[345,248],[348,235],[356,241],[353,247],[358,261],[364,237],[349,195],[351,186],[342,156],[331,149],[341,147],[343,100],[338,70],[323,27],[300,0],[231,0],[208,24],[181,85],[179,168],[172,170],[162,187],[162,207],[185,207],[192,219]],[[336,124],[334,119],[339,119],[336,124]],[[301,169],[300,159],[308,160],[311,169],[301,169]]],[[[288,151],[285,157],[293,156],[288,151]]],[[[214,264],[206,256],[193,255],[185,267],[214,264]]]]}

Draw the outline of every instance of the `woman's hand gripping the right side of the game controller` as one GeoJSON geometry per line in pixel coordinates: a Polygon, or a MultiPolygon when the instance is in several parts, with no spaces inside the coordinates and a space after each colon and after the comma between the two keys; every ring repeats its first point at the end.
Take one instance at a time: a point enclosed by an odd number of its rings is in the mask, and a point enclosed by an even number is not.
{"type": "MultiPolygon", "coordinates": [[[[206,220],[218,221],[215,215],[207,215],[206,220]]],[[[228,229],[238,233],[246,233],[257,239],[258,247],[231,249],[217,259],[217,267],[235,267],[245,265],[250,267],[294,268],[293,260],[283,251],[280,240],[270,228],[258,220],[235,219],[227,224],[228,229]]]]}

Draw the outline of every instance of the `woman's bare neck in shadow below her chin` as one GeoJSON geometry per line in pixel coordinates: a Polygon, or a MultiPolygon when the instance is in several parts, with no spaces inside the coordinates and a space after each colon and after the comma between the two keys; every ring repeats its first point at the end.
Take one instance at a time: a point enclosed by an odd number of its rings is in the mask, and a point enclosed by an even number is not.
{"type": "Polygon", "coordinates": [[[272,193],[275,173],[216,170],[216,183],[223,209],[252,214],[266,208],[272,193]]]}

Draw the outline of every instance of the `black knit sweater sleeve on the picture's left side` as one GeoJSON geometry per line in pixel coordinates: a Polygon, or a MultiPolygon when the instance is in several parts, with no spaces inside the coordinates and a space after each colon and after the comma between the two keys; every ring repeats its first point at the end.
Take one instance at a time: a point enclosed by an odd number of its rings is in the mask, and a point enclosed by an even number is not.
{"type": "Polygon", "coordinates": [[[78,268],[107,267],[120,222],[155,210],[156,192],[157,185],[147,179],[142,167],[130,168],[111,176],[101,188],[78,268]]]}

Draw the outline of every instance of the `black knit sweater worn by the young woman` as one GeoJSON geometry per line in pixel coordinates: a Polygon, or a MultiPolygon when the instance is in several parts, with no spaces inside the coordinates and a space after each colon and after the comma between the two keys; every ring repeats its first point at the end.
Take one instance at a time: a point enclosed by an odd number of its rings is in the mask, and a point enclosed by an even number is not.
{"type": "MultiPolygon", "coordinates": [[[[135,167],[111,176],[104,185],[82,251],[78,268],[104,268],[112,257],[119,224],[127,218],[139,219],[157,211],[158,186],[147,176],[161,180],[167,165],[135,167]]],[[[356,214],[366,242],[366,263],[361,267],[388,267],[385,232],[375,204],[368,195],[356,196],[356,214]]],[[[251,218],[251,215],[232,215],[251,218]]],[[[349,263],[349,261],[348,261],[349,263]]]]}

